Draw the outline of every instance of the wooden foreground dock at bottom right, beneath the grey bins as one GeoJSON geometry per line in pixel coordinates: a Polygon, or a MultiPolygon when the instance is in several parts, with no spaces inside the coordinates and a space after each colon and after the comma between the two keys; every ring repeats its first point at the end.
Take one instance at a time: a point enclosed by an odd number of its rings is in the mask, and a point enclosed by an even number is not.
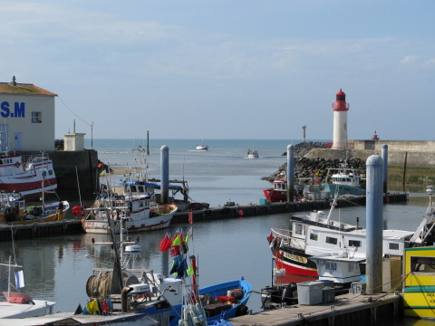
{"type": "Polygon", "coordinates": [[[292,305],[230,319],[235,326],[248,325],[370,325],[401,314],[401,295],[381,293],[371,295],[343,294],[335,301],[316,305],[292,305]]]}

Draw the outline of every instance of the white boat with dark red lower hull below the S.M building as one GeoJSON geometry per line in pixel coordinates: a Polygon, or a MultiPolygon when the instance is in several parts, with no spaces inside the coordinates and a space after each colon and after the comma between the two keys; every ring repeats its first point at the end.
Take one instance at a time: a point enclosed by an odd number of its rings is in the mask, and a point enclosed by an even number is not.
{"type": "Polygon", "coordinates": [[[26,199],[57,188],[53,161],[46,153],[30,156],[0,155],[0,191],[17,192],[26,199]]]}

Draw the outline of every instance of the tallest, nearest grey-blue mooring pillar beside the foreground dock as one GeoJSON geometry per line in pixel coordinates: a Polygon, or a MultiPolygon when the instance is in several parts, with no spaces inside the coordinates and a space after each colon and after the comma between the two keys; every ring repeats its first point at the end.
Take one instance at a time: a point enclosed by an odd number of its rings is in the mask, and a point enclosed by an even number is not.
{"type": "Polygon", "coordinates": [[[367,158],[366,187],[366,278],[367,293],[382,292],[382,175],[383,160],[378,155],[367,158]]]}

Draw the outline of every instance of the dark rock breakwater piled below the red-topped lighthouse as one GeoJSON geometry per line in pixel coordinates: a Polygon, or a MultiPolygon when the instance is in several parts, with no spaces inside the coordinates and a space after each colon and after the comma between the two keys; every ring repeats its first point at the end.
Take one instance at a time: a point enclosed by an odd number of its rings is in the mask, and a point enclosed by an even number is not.
{"type": "MultiPolygon", "coordinates": [[[[344,162],[343,159],[327,159],[327,158],[304,158],[304,155],[311,149],[325,149],[326,143],[308,141],[295,145],[295,181],[306,180],[307,178],[314,177],[314,175],[321,180],[326,177],[328,168],[339,168],[340,164],[344,162]]],[[[286,153],[283,154],[286,156],[286,153]]],[[[361,158],[350,158],[347,161],[349,168],[358,168],[365,171],[365,160],[361,158]]],[[[287,163],[285,162],[279,167],[272,176],[262,177],[262,180],[274,181],[280,175],[285,174],[287,163]]]]}

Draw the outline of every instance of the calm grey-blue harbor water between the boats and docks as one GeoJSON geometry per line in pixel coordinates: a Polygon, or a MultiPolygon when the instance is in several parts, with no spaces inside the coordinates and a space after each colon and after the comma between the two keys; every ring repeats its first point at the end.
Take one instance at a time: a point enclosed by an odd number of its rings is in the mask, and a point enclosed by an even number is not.
{"type": "MultiPolygon", "coordinates": [[[[138,143],[138,142],[136,142],[138,143]]],[[[200,140],[198,141],[200,143],[200,140]]],[[[238,204],[258,203],[262,190],[269,187],[260,178],[275,172],[285,163],[281,156],[291,141],[286,140],[213,140],[204,141],[208,152],[196,152],[194,140],[155,140],[147,158],[150,177],[160,177],[160,146],[169,146],[170,178],[183,177],[189,181],[190,197],[194,201],[223,205],[231,199],[238,204]],[[247,159],[247,149],[258,150],[260,158],[247,159]]],[[[93,148],[99,158],[111,166],[132,164],[132,141],[93,139],[93,148]]],[[[143,145],[143,143],[141,144],[143,145]]],[[[146,145],[146,144],[145,144],[146,145]]],[[[88,148],[91,146],[86,144],[88,148]]],[[[421,189],[422,191],[424,189],[421,189]]],[[[414,230],[420,223],[428,203],[424,194],[411,194],[410,201],[383,207],[384,227],[414,230]]],[[[335,218],[354,223],[360,217],[365,224],[365,207],[337,209],[335,218]]],[[[271,283],[272,260],[266,242],[271,227],[285,228],[290,215],[255,216],[213,223],[193,224],[193,242],[190,254],[198,255],[199,283],[206,286],[244,276],[260,292],[271,283]]],[[[142,246],[143,267],[163,274],[169,273],[171,259],[160,253],[160,240],[166,233],[173,235],[190,225],[174,225],[168,229],[133,235],[139,236],[142,246]]],[[[111,267],[109,247],[92,245],[96,241],[109,241],[105,235],[67,235],[36,240],[3,243],[0,260],[16,256],[17,264],[24,266],[25,290],[36,299],[53,300],[56,310],[72,312],[79,303],[86,302],[85,284],[93,267],[111,267]],[[13,245],[15,250],[13,251],[13,245]]],[[[0,267],[2,290],[7,288],[7,269],[0,267]]],[[[258,294],[253,294],[248,307],[260,311],[258,294]]],[[[413,320],[401,320],[397,325],[411,325],[413,320]]]]}

